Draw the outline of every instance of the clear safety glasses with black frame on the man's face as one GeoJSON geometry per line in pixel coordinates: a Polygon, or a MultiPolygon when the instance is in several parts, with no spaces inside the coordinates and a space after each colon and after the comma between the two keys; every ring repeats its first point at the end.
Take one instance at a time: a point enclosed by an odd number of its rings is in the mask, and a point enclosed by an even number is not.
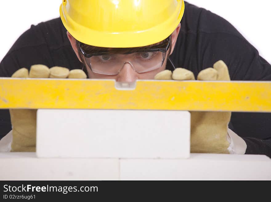
{"type": "Polygon", "coordinates": [[[171,45],[170,42],[171,39],[168,37],[161,44],[151,48],[108,49],[99,47],[99,52],[94,52],[95,48],[93,49],[93,46],[88,48],[87,45],[83,43],[79,43],[79,45],[85,62],[92,72],[105,75],[117,75],[126,63],[129,63],[137,73],[144,73],[160,68],[164,64],[167,51],[171,45]],[[90,49],[92,50],[87,51],[90,49]]]}

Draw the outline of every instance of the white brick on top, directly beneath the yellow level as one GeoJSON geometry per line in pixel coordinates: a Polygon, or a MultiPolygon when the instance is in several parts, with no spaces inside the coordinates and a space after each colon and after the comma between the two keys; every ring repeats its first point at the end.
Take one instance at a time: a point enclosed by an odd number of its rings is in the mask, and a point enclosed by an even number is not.
{"type": "Polygon", "coordinates": [[[190,113],[39,109],[37,156],[188,158],[190,113]]]}

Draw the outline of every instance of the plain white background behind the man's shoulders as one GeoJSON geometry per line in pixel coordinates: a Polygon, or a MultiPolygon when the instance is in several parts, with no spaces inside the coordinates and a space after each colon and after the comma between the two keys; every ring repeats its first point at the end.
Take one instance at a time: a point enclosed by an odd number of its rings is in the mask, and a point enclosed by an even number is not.
{"type": "MultiPolygon", "coordinates": [[[[166,1],[166,0],[165,0],[166,1]]],[[[61,0],[1,1],[0,60],[31,24],[59,17],[61,0]]],[[[271,1],[188,0],[228,20],[271,63],[271,1]]]]}

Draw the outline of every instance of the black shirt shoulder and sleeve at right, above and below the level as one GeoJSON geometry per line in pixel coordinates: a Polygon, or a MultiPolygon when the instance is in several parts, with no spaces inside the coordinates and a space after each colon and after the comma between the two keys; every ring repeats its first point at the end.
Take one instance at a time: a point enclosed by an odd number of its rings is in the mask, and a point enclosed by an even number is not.
{"type": "MultiPolygon", "coordinates": [[[[232,81],[271,81],[271,65],[234,26],[188,3],[171,58],[176,67],[191,70],[195,77],[223,60],[232,81]]],[[[245,141],[247,154],[271,157],[271,113],[232,112],[229,126],[245,141]]]]}

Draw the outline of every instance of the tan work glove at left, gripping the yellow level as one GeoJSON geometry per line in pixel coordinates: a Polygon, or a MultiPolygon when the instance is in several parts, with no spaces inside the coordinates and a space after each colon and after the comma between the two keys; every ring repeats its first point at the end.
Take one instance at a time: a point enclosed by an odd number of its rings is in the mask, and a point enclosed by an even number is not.
{"type": "MultiPolygon", "coordinates": [[[[52,67],[45,65],[32,65],[28,69],[17,70],[13,78],[87,78],[81,69],[69,70],[64,67],[52,67]]],[[[37,109],[10,109],[12,124],[12,152],[35,152],[36,151],[36,117],[37,109]]]]}

